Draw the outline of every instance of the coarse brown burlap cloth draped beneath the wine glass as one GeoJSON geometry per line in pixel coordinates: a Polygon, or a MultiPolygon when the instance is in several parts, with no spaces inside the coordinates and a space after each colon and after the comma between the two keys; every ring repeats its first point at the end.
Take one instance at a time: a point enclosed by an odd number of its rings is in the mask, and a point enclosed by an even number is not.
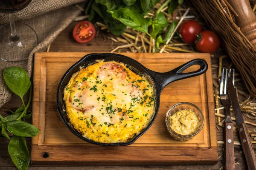
{"type": "MultiPolygon", "coordinates": [[[[79,15],[81,10],[73,4],[82,1],[84,0],[32,0],[29,6],[15,13],[17,24],[25,23],[35,30],[38,36],[38,45],[31,51],[29,59],[26,61],[10,63],[0,60],[0,107],[12,98],[12,93],[3,79],[3,69],[15,65],[24,68],[31,76],[34,53],[45,51],[55,37],[79,15]]],[[[0,13],[0,25],[8,22],[8,14],[0,13]]],[[[0,51],[0,56],[3,53],[3,51],[0,51]]],[[[25,57],[27,56],[16,54],[15,51],[5,55],[5,58],[9,60],[23,59],[25,57]]]]}

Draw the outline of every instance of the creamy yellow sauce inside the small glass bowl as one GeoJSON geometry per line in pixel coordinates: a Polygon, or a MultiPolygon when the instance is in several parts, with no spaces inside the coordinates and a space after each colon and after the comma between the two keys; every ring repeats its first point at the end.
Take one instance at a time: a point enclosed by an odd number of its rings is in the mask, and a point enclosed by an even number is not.
{"type": "Polygon", "coordinates": [[[190,135],[198,129],[198,116],[191,109],[177,111],[170,116],[170,126],[176,133],[190,135]]]}

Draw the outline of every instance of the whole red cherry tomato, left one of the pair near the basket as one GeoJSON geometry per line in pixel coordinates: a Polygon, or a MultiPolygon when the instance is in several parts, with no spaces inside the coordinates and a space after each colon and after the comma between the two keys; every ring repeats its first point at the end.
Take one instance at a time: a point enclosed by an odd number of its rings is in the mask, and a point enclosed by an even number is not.
{"type": "Polygon", "coordinates": [[[180,27],[180,35],[182,40],[186,43],[194,43],[196,39],[196,34],[202,31],[201,25],[194,21],[185,21],[180,27]]]}

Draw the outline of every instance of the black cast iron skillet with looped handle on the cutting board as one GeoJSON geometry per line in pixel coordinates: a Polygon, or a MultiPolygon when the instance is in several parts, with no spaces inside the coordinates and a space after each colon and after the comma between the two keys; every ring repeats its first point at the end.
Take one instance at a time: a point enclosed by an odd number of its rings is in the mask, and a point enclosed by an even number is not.
{"type": "Polygon", "coordinates": [[[70,67],[67,72],[64,74],[64,76],[61,79],[61,82],[58,85],[57,90],[57,109],[61,116],[62,121],[67,126],[67,128],[74,133],[77,137],[80,139],[90,142],[93,144],[99,144],[104,146],[113,146],[113,145],[129,145],[134,143],[140,136],[142,136],[153,124],[154,120],[157,117],[157,113],[159,110],[160,105],[160,94],[163,90],[163,88],[168,85],[171,82],[180,80],[180,79],[186,79],[189,77],[195,77],[198,75],[201,75],[207,71],[208,65],[207,62],[203,59],[193,59],[175,69],[172,71],[166,72],[166,73],[158,73],[152,70],[149,70],[148,68],[145,68],[140,62],[137,62],[134,59],[131,59],[130,57],[120,55],[120,54],[113,54],[113,53],[103,53],[103,54],[87,54],[82,59],[80,59],[78,62],[76,62],[72,67],[70,67]],[[90,139],[87,139],[83,137],[73,126],[70,124],[67,118],[67,113],[65,110],[65,102],[63,100],[64,97],[64,88],[69,82],[70,78],[74,73],[79,71],[80,66],[86,67],[87,65],[93,64],[96,62],[96,60],[104,59],[105,61],[117,61],[117,62],[123,62],[125,65],[129,65],[133,69],[134,72],[139,72],[141,74],[147,75],[148,81],[153,85],[155,90],[155,113],[153,117],[151,118],[151,122],[148,124],[148,126],[139,134],[134,136],[133,138],[129,139],[127,142],[120,142],[120,143],[100,143],[100,142],[94,142],[90,139]],[[182,73],[186,68],[189,68],[192,65],[200,65],[200,68],[197,71],[193,71],[190,73],[182,73]]]}

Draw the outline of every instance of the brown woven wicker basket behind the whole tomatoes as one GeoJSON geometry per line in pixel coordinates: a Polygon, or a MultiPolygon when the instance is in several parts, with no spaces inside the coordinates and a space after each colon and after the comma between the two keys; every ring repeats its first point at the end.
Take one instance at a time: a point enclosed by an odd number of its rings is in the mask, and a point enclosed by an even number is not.
{"type": "Polygon", "coordinates": [[[256,97],[256,48],[236,25],[227,0],[193,0],[189,1],[189,5],[197,8],[212,30],[219,35],[248,91],[256,97]]]}

